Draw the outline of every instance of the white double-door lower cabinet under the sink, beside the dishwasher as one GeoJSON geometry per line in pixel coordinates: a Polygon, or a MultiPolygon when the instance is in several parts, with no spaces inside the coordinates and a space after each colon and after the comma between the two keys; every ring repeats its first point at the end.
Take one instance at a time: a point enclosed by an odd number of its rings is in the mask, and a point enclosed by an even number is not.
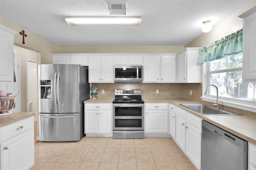
{"type": "Polygon", "coordinates": [[[175,141],[198,170],[201,168],[202,119],[176,108],[175,141]]]}

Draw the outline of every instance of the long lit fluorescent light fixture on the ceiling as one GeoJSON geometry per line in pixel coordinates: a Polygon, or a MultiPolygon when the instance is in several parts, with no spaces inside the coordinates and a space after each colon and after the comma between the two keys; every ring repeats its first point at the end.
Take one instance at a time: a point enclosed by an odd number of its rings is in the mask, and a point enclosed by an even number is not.
{"type": "Polygon", "coordinates": [[[140,26],[141,17],[66,17],[70,26],[82,25],[133,25],[140,26]]]}

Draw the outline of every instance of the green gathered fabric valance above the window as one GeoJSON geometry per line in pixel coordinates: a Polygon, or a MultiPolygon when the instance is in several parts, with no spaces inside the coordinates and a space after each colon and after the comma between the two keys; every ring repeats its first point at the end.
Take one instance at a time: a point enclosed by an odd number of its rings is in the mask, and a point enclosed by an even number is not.
{"type": "Polygon", "coordinates": [[[238,54],[243,51],[243,29],[234,32],[221,40],[199,50],[197,64],[213,61],[225,57],[225,55],[238,54]]]}

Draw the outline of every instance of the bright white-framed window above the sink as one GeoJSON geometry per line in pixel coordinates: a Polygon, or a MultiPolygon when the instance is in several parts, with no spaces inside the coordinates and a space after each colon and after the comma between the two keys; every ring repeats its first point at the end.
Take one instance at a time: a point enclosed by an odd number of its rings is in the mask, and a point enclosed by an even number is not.
{"type": "MultiPolygon", "coordinates": [[[[209,61],[206,64],[207,67],[204,68],[206,79],[203,93],[208,85],[216,85],[219,90],[221,104],[228,105],[227,103],[232,103],[229,106],[240,108],[237,105],[246,103],[246,105],[251,105],[255,110],[256,83],[242,82],[242,58],[243,54],[238,53],[209,61]]],[[[211,86],[208,89],[208,96],[203,95],[202,99],[205,100],[204,98],[209,99],[206,101],[216,99],[216,88],[211,86]]],[[[251,110],[249,109],[249,111],[251,110]]]]}

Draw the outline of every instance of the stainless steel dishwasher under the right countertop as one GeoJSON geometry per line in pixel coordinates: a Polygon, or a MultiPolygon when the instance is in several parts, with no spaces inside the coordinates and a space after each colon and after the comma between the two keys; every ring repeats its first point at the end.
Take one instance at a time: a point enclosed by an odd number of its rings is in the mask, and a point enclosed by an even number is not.
{"type": "Polygon", "coordinates": [[[202,121],[202,170],[247,170],[248,142],[202,121]]]}

